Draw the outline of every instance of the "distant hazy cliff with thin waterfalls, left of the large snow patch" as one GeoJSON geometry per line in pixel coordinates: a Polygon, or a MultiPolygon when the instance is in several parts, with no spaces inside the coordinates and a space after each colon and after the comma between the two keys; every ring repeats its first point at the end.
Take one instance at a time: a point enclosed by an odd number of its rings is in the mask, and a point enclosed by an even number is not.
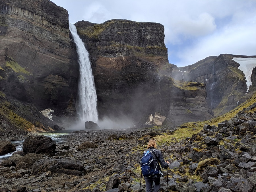
{"type": "Polygon", "coordinates": [[[207,104],[214,110],[214,115],[221,115],[248,98],[244,74],[233,57],[255,56],[222,54],[207,57],[186,67],[174,66],[172,77],[206,84],[207,104]]]}

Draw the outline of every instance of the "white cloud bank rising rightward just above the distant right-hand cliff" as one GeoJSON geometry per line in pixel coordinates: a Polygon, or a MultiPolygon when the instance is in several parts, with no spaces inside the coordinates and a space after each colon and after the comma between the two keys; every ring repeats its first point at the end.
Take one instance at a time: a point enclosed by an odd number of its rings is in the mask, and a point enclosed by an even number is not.
{"type": "Polygon", "coordinates": [[[202,38],[197,44],[177,52],[179,66],[196,63],[208,56],[223,53],[239,55],[255,55],[256,41],[254,40],[256,24],[227,26],[211,36],[202,38]]]}

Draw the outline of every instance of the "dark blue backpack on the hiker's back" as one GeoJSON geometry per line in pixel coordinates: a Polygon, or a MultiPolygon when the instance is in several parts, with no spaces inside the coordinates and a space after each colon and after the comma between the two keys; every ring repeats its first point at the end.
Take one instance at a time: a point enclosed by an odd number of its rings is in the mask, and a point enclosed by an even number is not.
{"type": "Polygon", "coordinates": [[[143,154],[143,157],[141,158],[141,172],[143,174],[143,177],[150,177],[154,174],[159,174],[159,170],[154,168],[154,158],[152,156],[152,150],[147,151],[143,154]]]}

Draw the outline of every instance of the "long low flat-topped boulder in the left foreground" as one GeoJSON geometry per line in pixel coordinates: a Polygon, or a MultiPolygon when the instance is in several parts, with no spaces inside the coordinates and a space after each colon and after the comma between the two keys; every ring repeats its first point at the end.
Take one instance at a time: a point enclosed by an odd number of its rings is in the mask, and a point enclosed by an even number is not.
{"type": "Polygon", "coordinates": [[[41,159],[32,166],[32,175],[51,171],[68,175],[81,175],[84,165],[71,159],[41,159]]]}

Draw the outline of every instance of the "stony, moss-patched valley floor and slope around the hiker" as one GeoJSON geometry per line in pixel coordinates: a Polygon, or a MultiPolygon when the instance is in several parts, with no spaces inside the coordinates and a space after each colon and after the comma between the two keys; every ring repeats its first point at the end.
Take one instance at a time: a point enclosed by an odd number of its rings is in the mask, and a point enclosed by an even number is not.
{"type": "MultiPolygon", "coordinates": [[[[0,191],[138,191],[138,162],[150,138],[172,162],[169,191],[255,191],[255,106],[179,141],[171,127],[77,131],[53,156],[19,152],[2,161],[0,191]]],[[[160,191],[167,190],[163,173],[160,191]]]]}

